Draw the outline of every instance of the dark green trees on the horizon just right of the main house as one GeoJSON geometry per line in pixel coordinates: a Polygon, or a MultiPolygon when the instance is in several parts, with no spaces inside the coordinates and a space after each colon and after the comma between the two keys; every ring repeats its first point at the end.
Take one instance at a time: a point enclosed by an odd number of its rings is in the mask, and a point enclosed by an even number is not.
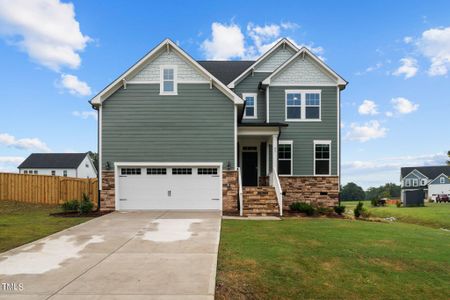
{"type": "Polygon", "coordinates": [[[386,183],[379,187],[370,187],[366,191],[354,182],[341,186],[341,201],[373,200],[381,198],[400,198],[400,185],[386,183]]]}

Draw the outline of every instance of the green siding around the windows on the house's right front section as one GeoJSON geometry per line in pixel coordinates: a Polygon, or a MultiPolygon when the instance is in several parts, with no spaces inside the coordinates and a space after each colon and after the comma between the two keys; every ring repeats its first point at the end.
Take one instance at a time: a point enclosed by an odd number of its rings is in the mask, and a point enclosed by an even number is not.
{"type": "Polygon", "coordinates": [[[293,175],[314,175],[314,140],[331,140],[331,175],[337,174],[337,88],[336,86],[271,86],[270,122],[289,124],[281,129],[280,140],[293,141],[293,175]],[[321,90],[320,122],[290,122],[285,117],[286,90],[321,90]]]}

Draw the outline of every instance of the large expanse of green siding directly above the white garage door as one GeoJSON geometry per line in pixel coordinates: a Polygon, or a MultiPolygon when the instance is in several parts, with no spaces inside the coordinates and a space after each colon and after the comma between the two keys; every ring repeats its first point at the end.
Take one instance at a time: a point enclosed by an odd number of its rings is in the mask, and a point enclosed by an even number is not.
{"type": "Polygon", "coordinates": [[[209,84],[129,84],[102,108],[102,161],[228,162],[234,166],[234,104],[209,84]]]}

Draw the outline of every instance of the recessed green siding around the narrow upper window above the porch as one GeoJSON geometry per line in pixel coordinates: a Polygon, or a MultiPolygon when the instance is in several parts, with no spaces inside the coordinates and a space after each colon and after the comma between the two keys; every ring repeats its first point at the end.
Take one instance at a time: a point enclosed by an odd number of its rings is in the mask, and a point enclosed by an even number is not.
{"type": "MultiPolygon", "coordinates": [[[[255,72],[248,75],[235,87],[234,92],[242,97],[243,93],[256,93],[257,99],[257,119],[242,119],[243,123],[264,123],[266,121],[266,93],[258,90],[261,81],[270,76],[267,72],[255,72]]],[[[245,100],[245,99],[244,99],[245,100]]]]}

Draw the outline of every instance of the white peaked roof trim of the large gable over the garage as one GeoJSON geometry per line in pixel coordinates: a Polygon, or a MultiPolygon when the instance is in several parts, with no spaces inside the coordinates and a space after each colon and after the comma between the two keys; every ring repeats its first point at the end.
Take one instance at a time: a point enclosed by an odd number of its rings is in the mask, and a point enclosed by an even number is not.
{"type": "Polygon", "coordinates": [[[148,62],[152,61],[154,58],[158,57],[161,50],[169,51],[169,49],[173,49],[179,54],[183,59],[189,62],[194,68],[196,68],[200,73],[205,75],[211,80],[211,84],[217,87],[222,93],[224,93],[231,101],[235,104],[244,104],[244,100],[242,100],[238,95],[236,95],[232,90],[230,90],[225,84],[223,84],[219,79],[217,79],[213,74],[207,71],[202,65],[196,62],[189,54],[187,54],[184,50],[182,50],[179,46],[177,46],[172,40],[165,39],[158,46],[153,48],[150,52],[148,52],[143,58],[141,58],[138,62],[136,62],[133,66],[131,66],[127,71],[125,71],[122,75],[120,75],[116,80],[114,80],[111,84],[105,87],[102,91],[100,91],[94,98],[90,100],[90,103],[94,106],[99,106],[102,104],[104,100],[106,100],[109,96],[111,96],[115,91],[117,91],[122,86],[126,85],[127,80],[132,78],[137,72],[142,70],[148,62]]]}

